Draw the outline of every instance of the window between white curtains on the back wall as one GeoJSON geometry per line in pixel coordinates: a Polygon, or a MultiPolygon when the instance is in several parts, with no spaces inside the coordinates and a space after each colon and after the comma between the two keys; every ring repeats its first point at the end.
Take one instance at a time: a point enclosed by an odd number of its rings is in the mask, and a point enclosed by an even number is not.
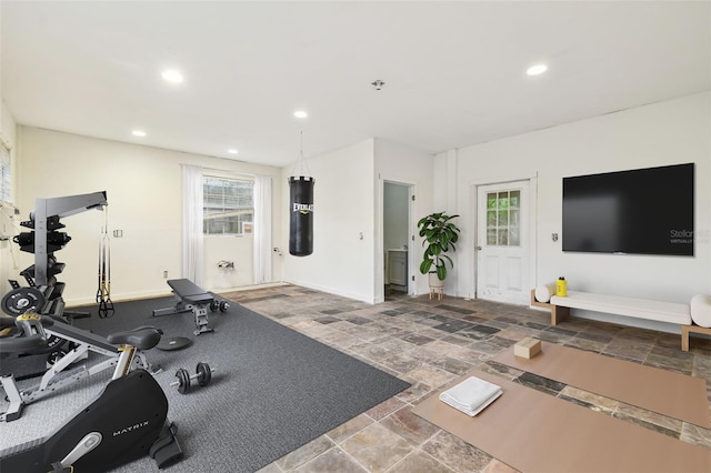
{"type": "Polygon", "coordinates": [[[202,219],[206,235],[251,234],[254,182],[247,179],[203,177],[202,219]]]}

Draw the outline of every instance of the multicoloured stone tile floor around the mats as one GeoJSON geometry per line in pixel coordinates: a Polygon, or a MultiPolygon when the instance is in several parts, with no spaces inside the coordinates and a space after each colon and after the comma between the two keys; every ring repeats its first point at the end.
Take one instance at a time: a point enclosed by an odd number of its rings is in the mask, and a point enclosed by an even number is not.
{"type": "Polygon", "coordinates": [[[551,326],[548,312],[524,306],[450,296],[437,301],[394,291],[374,305],[296,285],[222,295],[412,384],[260,473],[513,472],[411,412],[420,400],[474,368],[711,450],[711,430],[489,361],[533,335],[704,378],[711,386],[708,339],[692,338],[685,353],[675,334],[575,318],[551,326]]]}

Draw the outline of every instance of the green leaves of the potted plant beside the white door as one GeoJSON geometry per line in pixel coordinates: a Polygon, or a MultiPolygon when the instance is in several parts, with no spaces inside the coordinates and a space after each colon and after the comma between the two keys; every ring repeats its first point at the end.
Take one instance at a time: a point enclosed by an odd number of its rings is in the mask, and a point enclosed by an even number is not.
{"type": "Polygon", "coordinates": [[[447,215],[443,212],[432,213],[423,217],[418,222],[420,229],[420,236],[424,238],[422,246],[424,246],[424,254],[422,255],[422,262],[420,263],[420,272],[427,274],[434,266],[437,272],[437,279],[444,281],[447,278],[447,264],[454,268],[452,259],[447,254],[448,251],[457,251],[457,240],[459,240],[459,228],[450,220],[458,218],[459,215],[447,215]]]}

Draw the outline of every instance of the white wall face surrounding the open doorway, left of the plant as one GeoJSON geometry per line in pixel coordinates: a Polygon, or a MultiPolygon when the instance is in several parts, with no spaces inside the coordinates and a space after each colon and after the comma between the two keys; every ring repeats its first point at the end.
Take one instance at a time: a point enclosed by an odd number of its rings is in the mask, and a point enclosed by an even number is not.
{"type": "MultiPolygon", "coordinates": [[[[422,239],[418,235],[417,223],[422,217],[434,211],[432,208],[432,174],[434,170],[431,154],[400,143],[375,139],[375,268],[384,268],[383,260],[383,189],[384,182],[399,182],[412,187],[415,200],[411,202],[409,230],[414,235],[408,246],[408,274],[414,275],[414,293],[429,292],[427,275],[420,274],[420,260],[422,258],[422,239]]],[[[374,281],[375,302],[382,302],[383,284],[382,271],[378,271],[374,281]]]]}

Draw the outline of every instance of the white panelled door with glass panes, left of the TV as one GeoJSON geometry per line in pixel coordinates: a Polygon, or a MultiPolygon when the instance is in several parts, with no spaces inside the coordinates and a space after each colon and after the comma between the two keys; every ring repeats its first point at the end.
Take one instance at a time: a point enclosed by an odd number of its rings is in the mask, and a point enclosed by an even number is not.
{"type": "Polygon", "coordinates": [[[477,188],[477,298],[524,304],[529,295],[529,181],[477,188]]]}

